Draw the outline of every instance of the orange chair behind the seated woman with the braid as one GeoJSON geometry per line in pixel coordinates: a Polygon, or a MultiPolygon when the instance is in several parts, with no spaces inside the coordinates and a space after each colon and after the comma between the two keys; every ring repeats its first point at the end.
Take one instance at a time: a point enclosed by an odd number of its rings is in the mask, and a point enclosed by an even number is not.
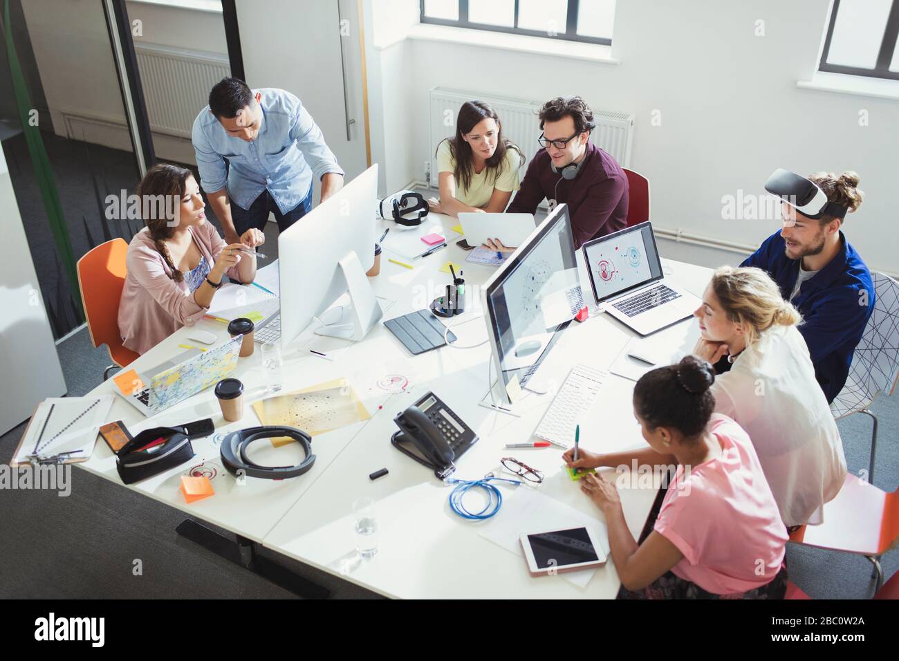
{"type": "Polygon", "coordinates": [[[78,287],[87,317],[87,330],[93,346],[106,344],[114,365],[103,370],[103,380],[111,370],[125,367],[138,358],[138,353],[121,344],[119,334],[119,301],[125,286],[125,239],[114,238],[96,246],[78,260],[78,287]]]}

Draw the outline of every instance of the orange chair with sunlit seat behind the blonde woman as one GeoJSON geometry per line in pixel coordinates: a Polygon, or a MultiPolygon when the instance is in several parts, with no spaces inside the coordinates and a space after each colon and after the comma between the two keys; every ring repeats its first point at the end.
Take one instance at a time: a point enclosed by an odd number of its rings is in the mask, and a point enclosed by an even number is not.
{"type": "Polygon", "coordinates": [[[804,525],[789,540],[865,556],[877,573],[877,593],[884,584],[880,556],[899,546],[899,489],[887,494],[847,473],[840,493],[824,505],[824,523],[804,525]]]}

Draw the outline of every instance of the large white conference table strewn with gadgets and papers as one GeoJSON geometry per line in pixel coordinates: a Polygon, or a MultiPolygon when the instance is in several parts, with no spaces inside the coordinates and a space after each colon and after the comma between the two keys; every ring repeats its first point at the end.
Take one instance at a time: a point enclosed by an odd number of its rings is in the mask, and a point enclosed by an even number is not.
{"type": "MultiPolygon", "coordinates": [[[[431,224],[440,222],[449,230],[457,221],[432,214],[431,224]]],[[[387,224],[380,221],[382,227],[387,224]]],[[[391,233],[401,231],[391,223],[391,233]]],[[[382,230],[379,230],[379,232],[382,230]]],[[[379,236],[378,232],[378,236],[379,236]]],[[[493,267],[465,262],[467,253],[455,246],[456,235],[447,232],[449,246],[433,255],[408,260],[392,255],[389,235],[381,255],[381,272],[371,278],[379,297],[395,301],[385,319],[399,317],[427,307],[441,294],[449,275],[439,271],[451,260],[463,264],[467,283],[468,308],[464,315],[448,320],[457,326],[460,345],[477,344],[486,338],[485,319],[480,309],[480,285],[494,272],[493,267]],[[413,269],[392,264],[394,257],[413,269]],[[479,317],[480,320],[472,320],[479,317]],[[470,323],[466,323],[470,320],[470,323]]],[[[578,253],[579,263],[581,255],[578,253]]],[[[707,268],[663,260],[666,274],[697,295],[708,281],[707,268]],[[670,273],[669,273],[670,272],[670,273]]],[[[592,303],[589,281],[580,264],[584,299],[592,303]]],[[[226,327],[210,319],[201,319],[197,328],[227,339],[226,327]]],[[[138,372],[172,360],[184,350],[179,344],[197,344],[189,340],[191,328],[182,327],[173,335],[129,365],[138,372]]],[[[143,428],[181,424],[211,417],[216,434],[192,442],[196,457],[189,463],[148,478],[128,488],[171,505],[192,519],[200,519],[234,532],[246,540],[318,567],[368,589],[395,597],[614,597],[619,579],[611,560],[596,572],[586,589],[571,585],[561,576],[531,578],[523,559],[482,538],[478,526],[452,514],[447,504],[450,487],[434,477],[431,470],[396,451],[390,435],[396,431],[393,417],[428,390],[433,390],[480,437],[480,441],[458,461],[458,478],[478,478],[499,466],[503,456],[514,456],[546,473],[542,494],[571,505],[597,519],[602,514],[583,496],[563,470],[561,450],[507,450],[507,442],[526,442],[552,402],[552,393],[565,380],[575,362],[606,369],[634,336],[626,326],[591,305],[591,316],[583,324],[574,322],[548,354],[538,373],[550,386],[546,395],[527,393],[516,406],[521,417],[478,406],[487,391],[489,344],[476,348],[441,347],[419,356],[410,355],[386,327],[378,324],[360,343],[306,333],[283,349],[284,388],[281,392],[313,386],[348,374],[387,377],[399,374],[413,387],[400,394],[385,394],[379,406],[370,406],[369,420],[333,432],[316,435],[312,447],[316,463],[298,478],[272,481],[244,478],[237,480],[221,468],[218,460],[219,433],[260,424],[250,406],[264,397],[265,373],[259,346],[252,356],[240,359],[236,378],[245,384],[245,414],[236,423],[221,416],[212,389],[191,397],[174,408],[152,418],[144,418],[120,397],[112,406],[110,420],[122,420],[131,433],[143,428]],[[295,351],[294,351],[295,348],[295,351]],[[308,353],[316,349],[328,353],[326,361],[308,353]],[[212,485],[215,496],[188,504],[181,492],[181,476],[193,466],[205,464],[215,472],[212,485]],[[370,481],[369,473],[389,469],[383,478],[370,481]],[[352,501],[360,496],[376,500],[379,549],[374,558],[347,562],[354,553],[352,501]],[[347,571],[347,568],[352,571],[347,571]]],[[[697,336],[695,322],[683,322],[653,335],[654,340],[672,350],[689,350],[697,336]]],[[[495,380],[496,375],[494,373],[495,380]]],[[[643,440],[631,413],[630,397],[634,381],[609,375],[601,401],[581,424],[582,445],[592,451],[619,451],[639,447],[643,440]]],[[[111,380],[93,389],[90,395],[113,392],[111,380]]],[[[252,458],[263,464],[287,465],[302,459],[296,443],[278,448],[256,442],[252,458]]],[[[77,463],[102,478],[121,485],[115,458],[109,448],[98,442],[90,460],[77,463]]],[[[511,476],[506,476],[511,477],[511,476]]],[[[505,496],[510,496],[507,487],[505,496]]],[[[510,487],[530,488],[530,487],[510,487]]],[[[636,534],[642,529],[652,505],[654,488],[622,490],[622,505],[628,525],[636,534]]],[[[502,510],[501,510],[502,514],[502,510]]],[[[500,514],[497,514],[497,517],[500,514]]]]}

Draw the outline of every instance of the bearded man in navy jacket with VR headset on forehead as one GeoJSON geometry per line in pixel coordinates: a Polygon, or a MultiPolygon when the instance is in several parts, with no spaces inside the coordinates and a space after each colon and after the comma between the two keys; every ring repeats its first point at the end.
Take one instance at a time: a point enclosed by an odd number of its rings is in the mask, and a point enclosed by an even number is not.
{"type": "Polygon", "coordinates": [[[871,273],[841,229],[846,213],[861,204],[858,186],[854,172],[806,178],[775,171],[765,190],[781,199],[783,228],[740,264],[769,272],[783,298],[802,314],[798,329],[828,403],[846,383],[852,353],[874,310],[871,273]]]}

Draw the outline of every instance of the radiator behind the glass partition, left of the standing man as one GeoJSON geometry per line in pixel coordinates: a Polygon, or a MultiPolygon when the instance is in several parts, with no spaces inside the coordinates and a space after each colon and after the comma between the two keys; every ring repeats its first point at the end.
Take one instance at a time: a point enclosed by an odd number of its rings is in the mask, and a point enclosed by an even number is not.
{"type": "Polygon", "coordinates": [[[134,49],[150,130],[190,139],[209,90],[231,75],[227,55],[149,43],[136,43],[134,49]]]}

